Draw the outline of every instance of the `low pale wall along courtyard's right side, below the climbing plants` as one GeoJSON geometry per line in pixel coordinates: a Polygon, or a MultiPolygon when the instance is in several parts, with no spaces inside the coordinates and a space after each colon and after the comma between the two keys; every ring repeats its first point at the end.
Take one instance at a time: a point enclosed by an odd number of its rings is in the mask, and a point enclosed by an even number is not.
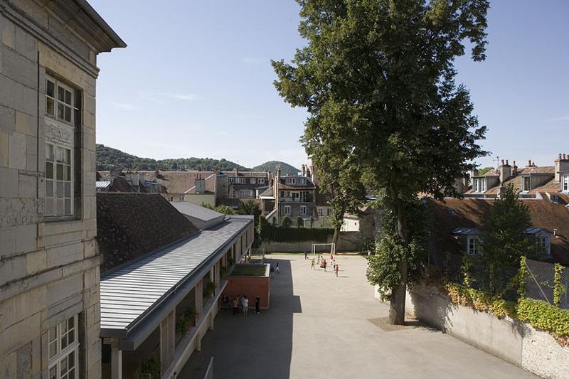
{"type": "Polygon", "coordinates": [[[569,348],[560,346],[546,331],[457,306],[432,287],[415,287],[408,292],[405,311],[427,325],[543,378],[569,378],[569,348]]]}

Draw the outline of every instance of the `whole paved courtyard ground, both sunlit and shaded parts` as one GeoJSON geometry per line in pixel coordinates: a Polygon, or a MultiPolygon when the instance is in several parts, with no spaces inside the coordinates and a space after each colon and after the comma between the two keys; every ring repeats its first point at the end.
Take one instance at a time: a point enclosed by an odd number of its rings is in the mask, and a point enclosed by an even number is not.
{"type": "Polygon", "coordinates": [[[211,356],[216,379],[537,378],[439,331],[382,328],[388,306],[373,298],[364,257],[339,255],[339,277],[302,255],[267,259],[280,266],[270,309],[220,311],[179,378],[196,377],[211,356]]]}

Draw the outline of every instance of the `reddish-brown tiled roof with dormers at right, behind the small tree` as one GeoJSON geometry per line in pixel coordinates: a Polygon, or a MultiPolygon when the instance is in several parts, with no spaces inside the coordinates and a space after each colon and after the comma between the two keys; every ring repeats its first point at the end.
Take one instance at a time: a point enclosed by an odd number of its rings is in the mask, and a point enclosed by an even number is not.
{"type": "MultiPolygon", "coordinates": [[[[459,252],[464,249],[454,240],[452,231],[456,228],[478,229],[480,220],[489,214],[493,201],[481,198],[446,198],[443,203],[429,199],[436,248],[442,252],[459,252]]],[[[551,237],[551,255],[555,262],[569,265],[569,209],[563,203],[555,204],[546,198],[522,201],[528,205],[534,228],[558,230],[558,236],[551,237]]]]}

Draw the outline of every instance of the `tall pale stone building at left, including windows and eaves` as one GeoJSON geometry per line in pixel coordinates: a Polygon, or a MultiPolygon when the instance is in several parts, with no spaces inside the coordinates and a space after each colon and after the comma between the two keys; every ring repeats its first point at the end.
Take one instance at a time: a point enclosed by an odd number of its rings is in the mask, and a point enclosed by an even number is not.
{"type": "Polygon", "coordinates": [[[97,54],[85,0],[0,0],[0,378],[100,378],[97,54]]]}

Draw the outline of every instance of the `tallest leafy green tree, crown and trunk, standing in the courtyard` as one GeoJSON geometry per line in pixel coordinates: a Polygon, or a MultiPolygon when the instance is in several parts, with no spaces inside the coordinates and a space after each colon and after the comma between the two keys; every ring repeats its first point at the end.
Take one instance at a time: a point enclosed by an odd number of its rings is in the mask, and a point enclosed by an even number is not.
{"type": "MultiPolygon", "coordinates": [[[[469,92],[454,59],[472,47],[484,60],[486,0],[297,0],[307,46],[292,63],[273,62],[285,101],[306,107],[305,136],[341,139],[363,183],[385,191],[396,215],[394,243],[405,252],[391,289],[390,321],[403,324],[418,193],[459,196],[453,184],[484,154],[469,92]],[[341,122],[329,122],[330,119],[341,122]]],[[[385,231],[389,234],[389,230],[385,231]]]]}

